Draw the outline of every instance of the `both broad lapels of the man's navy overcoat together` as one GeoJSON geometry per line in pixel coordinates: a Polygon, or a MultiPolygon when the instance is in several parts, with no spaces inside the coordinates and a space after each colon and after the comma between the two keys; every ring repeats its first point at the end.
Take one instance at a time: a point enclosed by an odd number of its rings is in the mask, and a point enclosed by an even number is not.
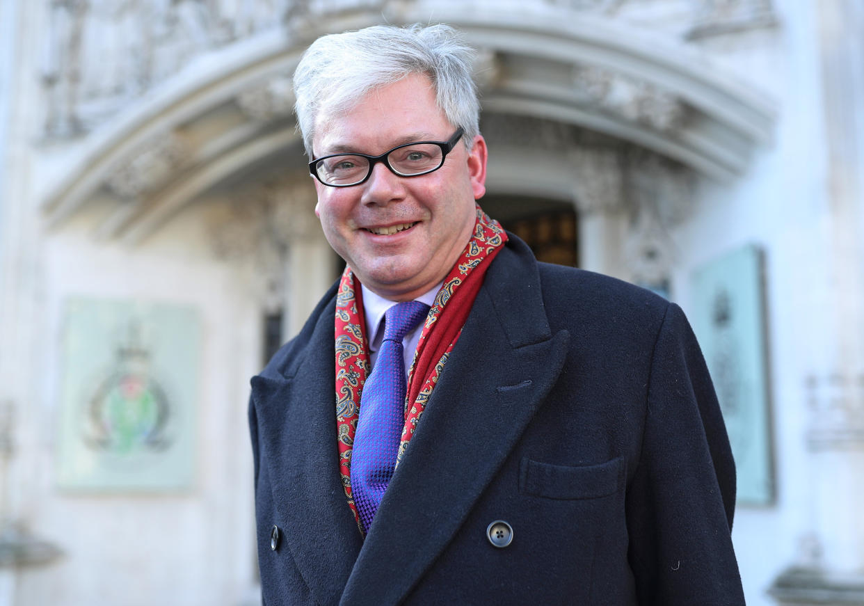
{"type": "Polygon", "coordinates": [[[345,501],[334,439],[334,303],[319,307],[287,369],[252,380],[259,440],[278,453],[264,464],[286,542],[316,602],[398,603],[515,447],[561,372],[569,334],[552,335],[537,262],[511,236],[486,273],[364,543],[345,501]],[[480,370],[478,360],[489,363],[480,370]],[[482,440],[474,437],[478,428],[482,440]]]}

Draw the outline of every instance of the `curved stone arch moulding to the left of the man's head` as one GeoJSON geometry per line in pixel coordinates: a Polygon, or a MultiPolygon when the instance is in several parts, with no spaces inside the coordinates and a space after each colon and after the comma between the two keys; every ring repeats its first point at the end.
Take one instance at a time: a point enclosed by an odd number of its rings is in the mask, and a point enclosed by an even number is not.
{"type": "MultiPolygon", "coordinates": [[[[132,202],[98,228],[99,235],[115,237],[142,217],[168,217],[223,177],[292,144],[293,121],[285,120],[273,99],[262,98],[281,90],[274,83],[293,73],[300,52],[302,48],[286,48],[282,32],[266,32],[219,48],[208,61],[157,86],[76,144],[76,161],[43,196],[49,225],[108,191],[118,201],[132,202]],[[262,112],[268,118],[259,119],[262,112]],[[183,153],[168,162],[170,170],[159,175],[151,171],[154,178],[144,185],[141,170],[135,175],[133,167],[166,163],[159,152],[163,138],[182,141],[183,153]],[[143,156],[151,162],[142,162],[143,156]],[[118,176],[118,171],[126,174],[118,176]],[[130,196],[124,187],[129,182],[140,182],[137,188],[144,195],[130,196]],[[118,188],[126,195],[118,195],[118,188]]],[[[157,223],[150,221],[140,235],[131,237],[145,237],[157,223]]]]}

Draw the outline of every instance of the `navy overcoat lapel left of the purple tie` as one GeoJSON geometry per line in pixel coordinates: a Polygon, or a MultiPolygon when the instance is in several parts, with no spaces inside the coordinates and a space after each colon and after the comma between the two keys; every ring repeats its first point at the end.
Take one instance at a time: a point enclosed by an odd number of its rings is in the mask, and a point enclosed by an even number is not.
{"type": "Polygon", "coordinates": [[[321,604],[339,602],[362,545],[339,475],[333,322],[331,304],[299,363],[252,379],[260,448],[267,453],[262,464],[269,466],[285,543],[321,604]]]}

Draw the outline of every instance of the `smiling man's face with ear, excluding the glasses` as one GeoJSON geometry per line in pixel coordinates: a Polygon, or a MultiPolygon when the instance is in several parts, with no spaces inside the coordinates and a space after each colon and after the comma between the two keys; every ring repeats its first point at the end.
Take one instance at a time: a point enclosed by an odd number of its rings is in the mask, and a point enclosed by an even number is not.
{"type": "MultiPolygon", "coordinates": [[[[429,78],[412,74],[382,86],[345,115],[321,112],[314,157],[383,154],[412,141],[447,141],[456,131],[435,104],[429,78]]],[[[486,193],[486,142],[460,141],[428,175],[401,177],[377,163],[368,181],[331,188],[315,181],[324,235],[360,282],[381,297],[408,301],[438,284],[471,237],[474,200],[486,193]],[[403,227],[380,233],[386,227],[403,227]]]]}

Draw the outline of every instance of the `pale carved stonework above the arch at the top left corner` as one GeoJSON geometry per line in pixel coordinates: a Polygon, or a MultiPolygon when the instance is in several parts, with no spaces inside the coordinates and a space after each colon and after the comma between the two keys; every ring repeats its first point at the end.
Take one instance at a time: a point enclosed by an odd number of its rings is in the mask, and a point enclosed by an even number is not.
{"type": "Polygon", "coordinates": [[[291,0],[53,0],[45,131],[91,130],[199,54],[280,27],[291,0]]]}

